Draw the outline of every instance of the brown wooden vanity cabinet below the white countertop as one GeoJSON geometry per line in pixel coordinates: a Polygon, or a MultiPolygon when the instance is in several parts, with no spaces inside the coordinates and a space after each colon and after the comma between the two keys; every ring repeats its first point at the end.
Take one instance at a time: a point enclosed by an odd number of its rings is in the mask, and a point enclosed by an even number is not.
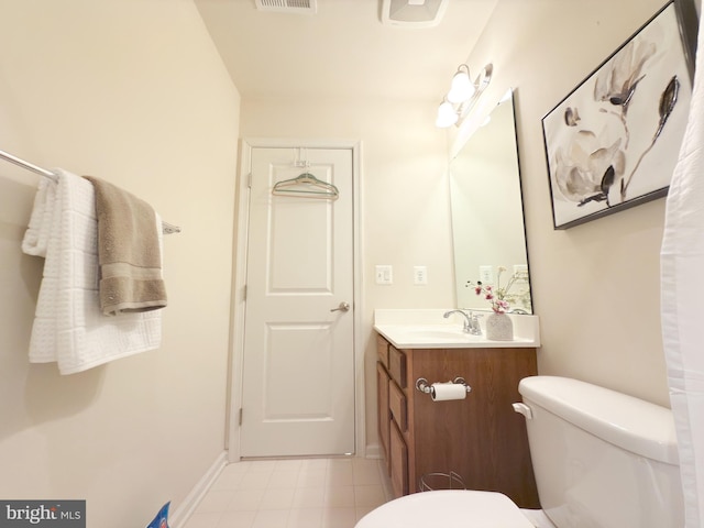
{"type": "Polygon", "coordinates": [[[427,473],[461,475],[468,490],[508,495],[521,508],[538,508],[518,382],[537,374],[536,349],[397,350],[377,336],[378,427],[394,494],[419,491],[427,473]],[[432,402],[416,389],[463,377],[465,399],[432,402]]]}

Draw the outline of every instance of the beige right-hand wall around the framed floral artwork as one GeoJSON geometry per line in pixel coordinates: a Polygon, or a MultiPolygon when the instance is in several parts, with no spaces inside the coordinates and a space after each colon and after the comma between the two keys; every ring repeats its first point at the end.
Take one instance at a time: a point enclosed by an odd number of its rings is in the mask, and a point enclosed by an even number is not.
{"type": "Polygon", "coordinates": [[[542,117],[662,3],[502,1],[469,64],[494,63],[486,97],[516,88],[534,301],[543,343],[540,373],[669,406],[659,311],[664,200],[553,230],[541,129],[542,117]]]}

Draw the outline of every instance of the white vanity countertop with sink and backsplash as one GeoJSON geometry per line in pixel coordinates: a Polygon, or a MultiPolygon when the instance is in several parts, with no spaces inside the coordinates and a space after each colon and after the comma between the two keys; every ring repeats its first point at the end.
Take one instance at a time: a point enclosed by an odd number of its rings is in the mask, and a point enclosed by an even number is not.
{"type": "MultiPolygon", "coordinates": [[[[448,319],[443,309],[378,309],[374,310],[374,330],[397,349],[487,349],[538,348],[540,329],[538,316],[508,314],[514,323],[514,339],[491,341],[486,339],[485,318],[491,311],[472,310],[480,316],[481,336],[462,331],[464,318],[459,314],[448,319]]],[[[464,310],[469,314],[470,310],[464,310]]]]}

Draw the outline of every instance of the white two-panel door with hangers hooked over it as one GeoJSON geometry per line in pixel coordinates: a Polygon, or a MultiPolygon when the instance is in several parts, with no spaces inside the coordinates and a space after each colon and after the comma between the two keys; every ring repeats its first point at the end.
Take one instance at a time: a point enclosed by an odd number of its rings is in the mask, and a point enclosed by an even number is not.
{"type": "Polygon", "coordinates": [[[254,147],[251,160],[241,455],[353,453],[352,150],[254,147]],[[301,173],[338,199],[272,195],[301,173]]]}

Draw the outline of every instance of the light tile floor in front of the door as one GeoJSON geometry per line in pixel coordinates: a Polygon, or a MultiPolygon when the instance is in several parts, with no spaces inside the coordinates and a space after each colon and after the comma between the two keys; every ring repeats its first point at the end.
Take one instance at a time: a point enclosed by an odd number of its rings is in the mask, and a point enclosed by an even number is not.
{"type": "Polygon", "coordinates": [[[230,464],[185,528],[353,528],[391,498],[382,463],[341,458],[230,464]]]}

